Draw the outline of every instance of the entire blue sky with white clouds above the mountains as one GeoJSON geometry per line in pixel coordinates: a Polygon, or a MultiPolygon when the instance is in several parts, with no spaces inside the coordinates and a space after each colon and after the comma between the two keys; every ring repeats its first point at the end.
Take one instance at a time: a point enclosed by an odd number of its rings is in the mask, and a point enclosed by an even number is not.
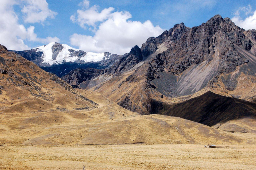
{"type": "Polygon", "coordinates": [[[175,24],[214,15],[256,29],[255,0],[1,0],[0,44],[27,50],[50,42],[124,54],[175,24]]]}

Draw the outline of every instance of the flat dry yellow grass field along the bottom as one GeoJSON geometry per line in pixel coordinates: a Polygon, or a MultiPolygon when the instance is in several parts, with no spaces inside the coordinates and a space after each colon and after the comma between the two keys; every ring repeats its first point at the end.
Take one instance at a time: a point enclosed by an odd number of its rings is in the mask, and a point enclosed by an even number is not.
{"type": "Polygon", "coordinates": [[[4,145],[0,153],[0,169],[256,169],[255,145],[4,145]]]}

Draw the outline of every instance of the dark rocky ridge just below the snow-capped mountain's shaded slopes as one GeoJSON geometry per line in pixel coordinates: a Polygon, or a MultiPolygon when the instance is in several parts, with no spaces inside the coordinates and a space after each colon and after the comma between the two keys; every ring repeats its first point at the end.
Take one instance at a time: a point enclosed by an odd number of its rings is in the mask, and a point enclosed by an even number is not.
{"type": "Polygon", "coordinates": [[[83,81],[91,80],[100,74],[102,74],[104,70],[99,70],[95,68],[87,68],[81,69],[77,68],[75,70],[70,71],[67,75],[63,76],[62,79],[70,84],[72,87],[78,87],[83,81]]]}

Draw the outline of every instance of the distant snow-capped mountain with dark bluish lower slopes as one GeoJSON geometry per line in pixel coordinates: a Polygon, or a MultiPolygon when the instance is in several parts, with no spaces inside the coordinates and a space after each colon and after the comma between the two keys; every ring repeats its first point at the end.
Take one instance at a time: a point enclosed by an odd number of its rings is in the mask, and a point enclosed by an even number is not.
{"type": "Polygon", "coordinates": [[[14,52],[59,77],[76,68],[104,69],[111,66],[119,57],[109,52],[85,52],[58,42],[51,42],[31,50],[14,52]]]}

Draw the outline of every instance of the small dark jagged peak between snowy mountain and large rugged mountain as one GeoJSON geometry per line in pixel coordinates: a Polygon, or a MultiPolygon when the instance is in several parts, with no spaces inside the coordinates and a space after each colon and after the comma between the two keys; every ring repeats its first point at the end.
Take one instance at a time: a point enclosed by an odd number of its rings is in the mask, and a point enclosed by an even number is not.
{"type": "Polygon", "coordinates": [[[134,46],[128,54],[124,54],[108,70],[108,74],[118,75],[131,69],[134,65],[142,61],[143,56],[138,45],[134,46]]]}

